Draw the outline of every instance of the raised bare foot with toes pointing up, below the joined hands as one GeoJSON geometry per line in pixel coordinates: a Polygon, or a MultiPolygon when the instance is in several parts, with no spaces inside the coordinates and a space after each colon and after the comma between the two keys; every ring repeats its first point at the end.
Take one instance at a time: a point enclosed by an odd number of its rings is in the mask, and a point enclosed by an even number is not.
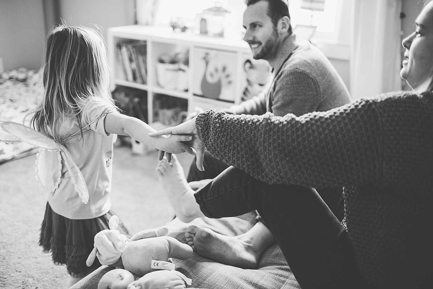
{"type": "Polygon", "coordinates": [[[179,163],[176,155],[171,156],[171,162],[162,159],[156,166],[156,174],[159,182],[164,187],[168,201],[174,208],[176,216],[183,222],[188,223],[195,218],[204,217],[200,206],[195,201],[194,191],[188,185],[184,169],[179,163]]]}

